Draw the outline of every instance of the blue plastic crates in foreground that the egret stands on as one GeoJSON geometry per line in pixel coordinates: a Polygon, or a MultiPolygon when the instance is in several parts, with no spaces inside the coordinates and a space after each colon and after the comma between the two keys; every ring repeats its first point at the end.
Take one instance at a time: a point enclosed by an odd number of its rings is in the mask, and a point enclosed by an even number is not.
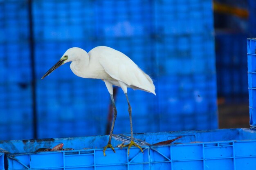
{"type": "MultiPolygon", "coordinates": [[[[256,132],[250,129],[218,129],[209,131],[157,132],[135,134],[138,148],[108,149],[102,147],[108,136],[56,138],[38,140],[0,141],[7,154],[8,170],[27,169],[120,169],[120,170],[247,170],[256,161],[256,132]],[[152,145],[161,141],[182,138],[168,145],[152,145]],[[63,143],[70,151],[34,152],[63,143]]],[[[113,146],[128,142],[124,135],[113,138],[113,146]]],[[[0,157],[1,158],[1,157],[0,157]]],[[[3,165],[0,165],[0,167],[3,165]]]]}

